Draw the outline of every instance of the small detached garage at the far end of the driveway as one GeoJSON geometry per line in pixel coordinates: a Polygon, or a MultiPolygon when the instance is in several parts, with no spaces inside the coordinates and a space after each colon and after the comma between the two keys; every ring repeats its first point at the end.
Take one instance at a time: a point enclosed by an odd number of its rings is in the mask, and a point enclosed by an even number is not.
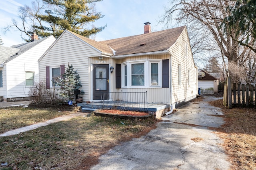
{"type": "Polygon", "coordinates": [[[219,80],[204,70],[198,72],[198,88],[201,94],[218,93],[219,80]]]}

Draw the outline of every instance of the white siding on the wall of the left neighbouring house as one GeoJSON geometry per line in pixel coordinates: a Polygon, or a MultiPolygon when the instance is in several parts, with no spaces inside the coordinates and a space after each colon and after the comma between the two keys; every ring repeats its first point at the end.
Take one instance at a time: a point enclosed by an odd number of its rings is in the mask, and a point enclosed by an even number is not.
{"type": "Polygon", "coordinates": [[[20,56],[6,63],[6,98],[28,97],[30,86],[25,84],[25,72],[34,72],[34,82],[38,82],[38,59],[55,41],[53,36],[32,47],[20,56]]]}

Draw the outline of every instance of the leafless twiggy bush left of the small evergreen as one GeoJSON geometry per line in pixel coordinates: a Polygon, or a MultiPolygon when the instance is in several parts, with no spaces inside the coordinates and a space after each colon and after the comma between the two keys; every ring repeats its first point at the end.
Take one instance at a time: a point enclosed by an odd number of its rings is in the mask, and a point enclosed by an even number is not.
{"type": "Polygon", "coordinates": [[[46,88],[44,82],[37,82],[35,85],[30,88],[29,95],[32,97],[32,104],[59,104],[62,101],[57,98],[57,95],[51,92],[50,89],[46,88]]]}

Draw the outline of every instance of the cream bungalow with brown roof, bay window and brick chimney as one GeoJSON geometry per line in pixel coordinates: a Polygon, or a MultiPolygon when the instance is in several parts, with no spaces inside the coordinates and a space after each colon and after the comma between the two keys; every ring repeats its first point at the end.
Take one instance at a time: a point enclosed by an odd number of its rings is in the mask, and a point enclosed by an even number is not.
{"type": "Polygon", "coordinates": [[[83,102],[109,92],[147,92],[148,103],[174,107],[196,98],[197,67],[186,26],[151,32],[144,24],[144,34],[99,42],[63,31],[39,59],[40,80],[53,89],[52,80],[70,63],[80,74],[83,102]]]}

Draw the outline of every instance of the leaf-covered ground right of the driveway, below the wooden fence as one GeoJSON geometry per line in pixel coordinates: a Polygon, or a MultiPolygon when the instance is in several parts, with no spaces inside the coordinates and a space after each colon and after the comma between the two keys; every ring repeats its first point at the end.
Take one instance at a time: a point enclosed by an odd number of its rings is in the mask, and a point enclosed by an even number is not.
{"type": "Polygon", "coordinates": [[[219,136],[224,139],[224,148],[234,170],[254,170],[256,168],[256,109],[223,106],[223,100],[210,102],[222,108],[226,123],[219,136]]]}

